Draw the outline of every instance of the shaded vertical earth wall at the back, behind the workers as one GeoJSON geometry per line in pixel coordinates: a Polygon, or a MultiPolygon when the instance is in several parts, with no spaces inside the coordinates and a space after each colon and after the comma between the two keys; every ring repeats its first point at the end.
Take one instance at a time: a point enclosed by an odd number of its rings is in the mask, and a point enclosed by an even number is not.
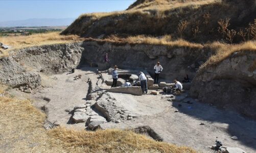
{"type": "Polygon", "coordinates": [[[82,59],[89,64],[105,68],[104,55],[108,53],[110,65],[122,69],[145,69],[154,75],[154,65],[160,62],[164,70],[160,78],[172,81],[182,80],[185,74],[193,78],[198,67],[208,57],[208,51],[202,48],[170,47],[166,45],[115,44],[84,42],[82,59]]]}

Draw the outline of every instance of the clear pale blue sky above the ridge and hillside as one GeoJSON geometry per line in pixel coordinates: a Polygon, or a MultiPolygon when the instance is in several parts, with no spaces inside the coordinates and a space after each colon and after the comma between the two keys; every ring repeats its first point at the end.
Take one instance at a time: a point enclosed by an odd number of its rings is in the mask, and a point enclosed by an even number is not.
{"type": "Polygon", "coordinates": [[[29,18],[77,18],[91,12],[125,10],[135,0],[102,1],[2,1],[0,21],[29,18]]]}

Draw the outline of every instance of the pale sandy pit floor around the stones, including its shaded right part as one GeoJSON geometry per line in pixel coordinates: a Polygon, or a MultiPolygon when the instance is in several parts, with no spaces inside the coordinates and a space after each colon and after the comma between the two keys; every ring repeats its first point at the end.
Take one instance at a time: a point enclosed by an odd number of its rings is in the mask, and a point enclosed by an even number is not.
{"type": "MultiPolygon", "coordinates": [[[[94,87],[97,86],[96,83],[102,86],[95,71],[94,68],[83,68],[73,74],[43,77],[44,88],[36,94],[26,94],[26,98],[30,95],[35,99],[37,107],[45,105],[47,108],[45,112],[51,122],[84,129],[85,123],[69,124],[71,114],[65,110],[86,103],[89,78],[94,87]],[[82,79],[74,80],[77,74],[81,74],[82,79]]],[[[17,91],[13,94],[17,94],[17,91]]],[[[185,94],[187,93],[182,96],[185,94]]],[[[246,152],[256,152],[256,121],[244,118],[235,112],[219,110],[195,100],[191,100],[193,104],[172,101],[170,95],[133,96],[111,93],[111,96],[122,101],[120,106],[139,115],[121,123],[104,123],[102,125],[104,129],[129,129],[148,125],[164,141],[190,146],[202,152],[212,152],[208,146],[215,144],[216,137],[223,146],[240,147],[246,152]],[[182,106],[179,107],[178,104],[182,106]],[[204,125],[200,125],[201,122],[204,125]],[[232,136],[237,136],[238,140],[231,139],[232,136]]]]}

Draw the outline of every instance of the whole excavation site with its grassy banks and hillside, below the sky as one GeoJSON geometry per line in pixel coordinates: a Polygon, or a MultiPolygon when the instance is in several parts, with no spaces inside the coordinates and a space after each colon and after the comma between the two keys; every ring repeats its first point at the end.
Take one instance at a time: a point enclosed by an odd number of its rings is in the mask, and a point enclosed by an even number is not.
{"type": "Polygon", "coordinates": [[[71,41],[1,49],[0,152],[256,152],[256,4],[238,4],[138,0],[81,15],[59,34],[71,41]],[[11,124],[26,134],[9,140],[11,124]]]}

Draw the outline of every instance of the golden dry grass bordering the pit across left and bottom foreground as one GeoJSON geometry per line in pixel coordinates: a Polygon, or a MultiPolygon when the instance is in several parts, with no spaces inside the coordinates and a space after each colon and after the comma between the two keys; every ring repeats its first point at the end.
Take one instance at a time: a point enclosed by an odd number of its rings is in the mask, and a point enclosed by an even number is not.
{"type": "MultiPolygon", "coordinates": [[[[0,93],[5,89],[0,86],[0,93]]],[[[131,131],[87,132],[63,127],[45,131],[45,114],[30,100],[0,96],[0,110],[0,152],[196,152],[131,131]]]]}

